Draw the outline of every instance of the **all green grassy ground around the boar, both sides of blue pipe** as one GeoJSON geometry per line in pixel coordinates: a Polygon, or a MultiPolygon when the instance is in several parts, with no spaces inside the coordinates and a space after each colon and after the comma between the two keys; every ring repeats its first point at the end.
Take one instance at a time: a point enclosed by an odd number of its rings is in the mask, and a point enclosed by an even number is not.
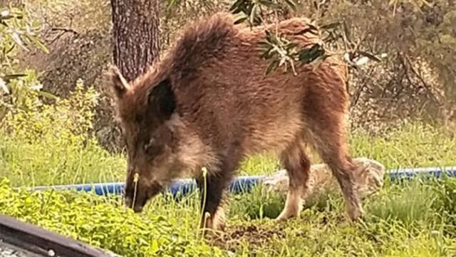
{"type": "MultiPolygon", "coordinates": [[[[405,126],[383,137],[351,136],[353,156],[386,168],[456,165],[456,138],[445,129],[405,126]]],[[[318,161],[318,158],[314,158],[318,161]]],[[[274,158],[257,156],[240,174],[271,173],[274,158]]],[[[122,181],[125,160],[98,146],[49,146],[16,138],[0,141],[0,212],[37,223],[125,256],[456,256],[456,182],[386,181],[366,199],[366,218],[350,224],[343,199],[326,199],[285,223],[272,221],[284,199],[257,188],[230,197],[229,227],[222,238],[203,241],[196,225],[197,196],[179,203],[157,197],[140,215],[119,198],[87,193],[28,193],[14,186],[122,181]],[[182,253],[185,251],[185,253],[182,253]]]]}

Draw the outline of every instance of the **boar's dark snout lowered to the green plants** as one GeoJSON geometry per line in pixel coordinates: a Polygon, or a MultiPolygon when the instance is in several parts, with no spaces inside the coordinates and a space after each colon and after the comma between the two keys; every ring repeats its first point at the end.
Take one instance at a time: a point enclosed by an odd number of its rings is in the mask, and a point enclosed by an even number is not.
{"type": "Polygon", "coordinates": [[[135,213],[140,213],[147,201],[162,191],[159,183],[150,183],[149,186],[138,182],[128,183],[125,187],[125,206],[133,208],[135,213]]]}

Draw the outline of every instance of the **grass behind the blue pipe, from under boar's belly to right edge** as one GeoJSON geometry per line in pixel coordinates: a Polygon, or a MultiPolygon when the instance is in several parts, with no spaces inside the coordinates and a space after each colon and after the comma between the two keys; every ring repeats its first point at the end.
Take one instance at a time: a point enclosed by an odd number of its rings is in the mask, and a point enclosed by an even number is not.
{"type": "MultiPolygon", "coordinates": [[[[456,138],[445,128],[421,123],[370,136],[356,131],[349,138],[353,157],[365,156],[383,163],[388,169],[407,167],[455,166],[456,138]]],[[[314,163],[321,159],[309,152],[314,163]]],[[[244,161],[241,174],[269,174],[279,169],[279,161],[270,156],[254,156],[244,161]]]]}

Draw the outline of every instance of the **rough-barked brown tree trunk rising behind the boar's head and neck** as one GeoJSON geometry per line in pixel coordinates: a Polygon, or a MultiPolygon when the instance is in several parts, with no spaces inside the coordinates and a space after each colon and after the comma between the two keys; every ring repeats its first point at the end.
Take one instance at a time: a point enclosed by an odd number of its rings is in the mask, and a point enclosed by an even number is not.
{"type": "Polygon", "coordinates": [[[158,0],[110,0],[114,63],[132,81],[158,58],[158,0]]]}

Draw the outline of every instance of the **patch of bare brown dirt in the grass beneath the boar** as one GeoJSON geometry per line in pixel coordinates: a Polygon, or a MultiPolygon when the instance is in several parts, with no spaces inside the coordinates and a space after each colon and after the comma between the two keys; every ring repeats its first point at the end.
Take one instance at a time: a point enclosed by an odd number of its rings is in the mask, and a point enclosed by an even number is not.
{"type": "Polygon", "coordinates": [[[212,238],[211,243],[227,251],[235,251],[241,244],[255,248],[268,243],[273,238],[284,237],[284,228],[263,228],[250,224],[227,227],[225,233],[217,238],[212,238]]]}

